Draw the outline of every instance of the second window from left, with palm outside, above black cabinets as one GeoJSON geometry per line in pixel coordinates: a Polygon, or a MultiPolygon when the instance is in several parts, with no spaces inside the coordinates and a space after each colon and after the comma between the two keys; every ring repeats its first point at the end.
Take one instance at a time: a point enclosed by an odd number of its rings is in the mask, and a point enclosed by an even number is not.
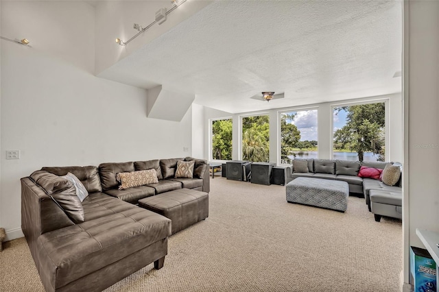
{"type": "Polygon", "coordinates": [[[242,118],[242,159],[270,160],[270,123],[268,115],[242,118]]]}

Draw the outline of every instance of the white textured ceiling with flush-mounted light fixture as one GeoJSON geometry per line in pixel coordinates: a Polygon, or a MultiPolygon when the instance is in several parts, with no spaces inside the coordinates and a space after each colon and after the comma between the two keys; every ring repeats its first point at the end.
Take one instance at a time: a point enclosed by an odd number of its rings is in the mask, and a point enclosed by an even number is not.
{"type": "Polygon", "coordinates": [[[215,1],[99,76],[232,113],[397,93],[401,12],[401,1],[215,1]],[[261,91],[285,98],[250,98],[261,91]]]}

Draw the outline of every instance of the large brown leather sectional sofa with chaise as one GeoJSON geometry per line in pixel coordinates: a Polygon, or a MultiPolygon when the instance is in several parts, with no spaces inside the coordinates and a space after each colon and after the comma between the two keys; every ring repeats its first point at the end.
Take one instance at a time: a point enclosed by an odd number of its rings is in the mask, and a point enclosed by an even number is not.
{"type": "Polygon", "coordinates": [[[171,220],[134,204],[176,188],[209,192],[206,160],[195,160],[193,178],[187,179],[174,178],[177,160],[195,159],[43,167],[22,178],[21,226],[45,289],[102,291],[150,263],[163,267],[171,220]],[[117,189],[117,173],[152,168],[158,184],[117,189]],[[89,193],[82,206],[58,204],[75,195],[73,185],[58,176],[67,172],[89,193]]]}

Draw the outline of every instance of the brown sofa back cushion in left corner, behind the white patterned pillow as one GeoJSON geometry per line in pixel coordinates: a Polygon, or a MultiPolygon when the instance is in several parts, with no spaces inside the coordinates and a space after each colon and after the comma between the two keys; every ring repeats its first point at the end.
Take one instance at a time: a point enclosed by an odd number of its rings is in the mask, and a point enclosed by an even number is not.
{"type": "Polygon", "coordinates": [[[43,167],[41,170],[49,171],[62,176],[73,173],[84,184],[88,193],[102,192],[101,180],[97,167],[43,167]]]}

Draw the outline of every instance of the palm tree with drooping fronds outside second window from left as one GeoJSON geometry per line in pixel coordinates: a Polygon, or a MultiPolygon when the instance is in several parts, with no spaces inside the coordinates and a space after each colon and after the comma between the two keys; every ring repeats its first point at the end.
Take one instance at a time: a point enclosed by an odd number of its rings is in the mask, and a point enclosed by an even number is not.
{"type": "Polygon", "coordinates": [[[244,132],[242,158],[253,162],[268,162],[268,141],[252,128],[244,132]]]}

